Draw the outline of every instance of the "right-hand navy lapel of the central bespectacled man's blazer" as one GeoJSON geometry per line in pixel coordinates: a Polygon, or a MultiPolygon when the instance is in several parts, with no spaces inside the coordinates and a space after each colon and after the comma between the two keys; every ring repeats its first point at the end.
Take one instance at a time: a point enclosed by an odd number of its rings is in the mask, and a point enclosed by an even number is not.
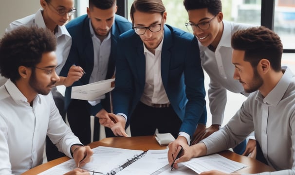
{"type": "Polygon", "coordinates": [[[170,58],[171,51],[170,48],[172,46],[172,36],[169,28],[164,25],[164,41],[162,46],[162,54],[161,54],[161,75],[162,82],[164,87],[167,87],[168,84],[168,74],[169,74],[169,66],[170,66],[170,58]]]}

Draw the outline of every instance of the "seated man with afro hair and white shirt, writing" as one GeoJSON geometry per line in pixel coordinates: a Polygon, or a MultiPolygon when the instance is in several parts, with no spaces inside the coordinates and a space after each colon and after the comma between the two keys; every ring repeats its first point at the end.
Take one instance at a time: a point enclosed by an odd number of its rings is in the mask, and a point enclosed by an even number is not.
{"type": "MultiPolygon", "coordinates": [[[[56,39],[45,28],[19,27],[0,41],[0,174],[21,174],[43,162],[46,135],[79,167],[93,154],[62,120],[51,89],[56,74],[56,39]],[[85,157],[86,156],[86,157],[85,157]]],[[[89,175],[82,169],[69,174],[89,175]]]]}

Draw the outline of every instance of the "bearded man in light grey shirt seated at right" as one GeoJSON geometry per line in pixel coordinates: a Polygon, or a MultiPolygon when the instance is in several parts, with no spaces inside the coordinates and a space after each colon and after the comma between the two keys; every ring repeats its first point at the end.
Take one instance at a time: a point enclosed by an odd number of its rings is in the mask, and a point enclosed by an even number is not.
{"type": "MultiPolygon", "coordinates": [[[[265,27],[240,30],[232,36],[234,78],[251,93],[232,120],[221,130],[191,147],[183,145],[177,163],[235,146],[255,131],[257,159],[276,172],[262,175],[295,174],[295,75],[281,68],[283,46],[277,34],[265,27]],[[256,91],[257,90],[257,91],[256,91]],[[260,148],[261,147],[261,148],[260,148]],[[261,153],[261,154],[259,154],[261,153]]],[[[179,150],[169,146],[168,161],[179,150]]],[[[212,171],[209,174],[222,174],[212,171]]]]}

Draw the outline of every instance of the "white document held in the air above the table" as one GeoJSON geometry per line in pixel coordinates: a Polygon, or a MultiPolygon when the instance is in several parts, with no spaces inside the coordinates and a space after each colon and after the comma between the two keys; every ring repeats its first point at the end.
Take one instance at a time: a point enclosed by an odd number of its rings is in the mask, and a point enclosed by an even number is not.
{"type": "Polygon", "coordinates": [[[87,85],[72,87],[72,99],[95,101],[101,96],[110,92],[113,87],[111,83],[115,81],[114,78],[90,83],[87,85]]]}

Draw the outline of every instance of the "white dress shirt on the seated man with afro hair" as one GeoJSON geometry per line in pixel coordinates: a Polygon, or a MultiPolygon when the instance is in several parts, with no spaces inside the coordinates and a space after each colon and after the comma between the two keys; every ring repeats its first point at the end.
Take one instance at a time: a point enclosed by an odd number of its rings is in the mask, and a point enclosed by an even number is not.
{"type": "Polygon", "coordinates": [[[62,120],[51,93],[38,94],[30,106],[8,79],[0,87],[0,174],[21,174],[42,164],[46,134],[68,157],[71,146],[81,144],[62,120]]]}

